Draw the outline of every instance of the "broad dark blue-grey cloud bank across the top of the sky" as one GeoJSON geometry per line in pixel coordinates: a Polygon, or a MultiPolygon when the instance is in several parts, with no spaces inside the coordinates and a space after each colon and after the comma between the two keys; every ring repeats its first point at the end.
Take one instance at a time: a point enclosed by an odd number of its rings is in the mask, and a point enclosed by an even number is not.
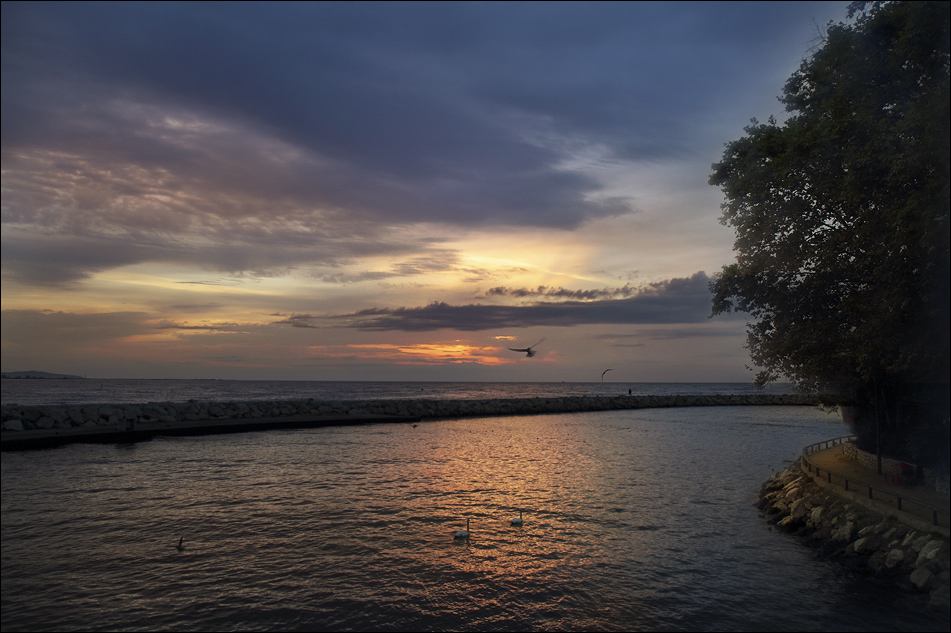
{"type": "MultiPolygon", "coordinates": [[[[100,140],[134,145],[131,122],[103,108],[132,96],[253,123],[376,185],[395,178],[434,191],[416,192],[428,205],[389,205],[399,214],[471,222],[465,211],[478,204],[480,217],[568,225],[620,207],[583,203],[597,185],[556,169],[563,156],[526,142],[532,130],[518,129],[519,116],[549,120],[567,138],[594,135],[619,155],[682,153],[698,104],[725,89],[725,73],[755,65],[736,67],[736,36],[768,38],[784,9],[4,3],[3,12],[5,147],[101,137],[108,126],[116,138],[100,140]],[[466,198],[471,206],[443,208],[466,198]]],[[[169,145],[133,153],[185,160],[169,145]]]]}

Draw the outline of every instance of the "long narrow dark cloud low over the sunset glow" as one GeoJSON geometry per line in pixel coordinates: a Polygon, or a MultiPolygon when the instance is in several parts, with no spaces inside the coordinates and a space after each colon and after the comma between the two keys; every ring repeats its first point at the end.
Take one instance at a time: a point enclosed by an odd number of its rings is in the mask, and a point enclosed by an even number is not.
{"type": "Polygon", "coordinates": [[[434,302],[415,308],[373,308],[333,317],[293,315],[277,324],[302,328],[340,326],[360,330],[428,332],[576,326],[589,324],[700,323],[710,316],[710,278],[703,272],[651,285],[627,299],[539,302],[532,305],[450,305],[434,302]]]}

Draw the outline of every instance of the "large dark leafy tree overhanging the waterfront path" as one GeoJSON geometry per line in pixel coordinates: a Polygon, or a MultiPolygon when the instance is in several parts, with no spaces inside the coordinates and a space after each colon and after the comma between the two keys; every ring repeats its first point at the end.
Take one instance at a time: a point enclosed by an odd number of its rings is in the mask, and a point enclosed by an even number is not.
{"type": "Polygon", "coordinates": [[[893,453],[923,422],[947,434],[949,6],[850,5],[787,81],[789,117],[753,120],[710,178],[736,231],[713,314],[751,315],[756,382],[838,394],[893,453]]]}

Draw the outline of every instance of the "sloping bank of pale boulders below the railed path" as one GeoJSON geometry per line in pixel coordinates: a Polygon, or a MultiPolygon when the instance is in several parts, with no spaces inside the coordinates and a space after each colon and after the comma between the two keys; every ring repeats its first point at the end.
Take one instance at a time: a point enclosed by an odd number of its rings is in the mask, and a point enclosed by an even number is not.
{"type": "Polygon", "coordinates": [[[916,593],[930,609],[948,611],[947,537],[916,530],[819,486],[798,462],[763,484],[759,508],[820,555],[916,593]]]}

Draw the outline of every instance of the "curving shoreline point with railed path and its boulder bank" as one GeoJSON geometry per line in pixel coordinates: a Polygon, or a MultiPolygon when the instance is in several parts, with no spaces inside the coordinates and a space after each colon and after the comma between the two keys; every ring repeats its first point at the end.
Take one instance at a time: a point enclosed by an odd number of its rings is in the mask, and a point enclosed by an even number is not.
{"type": "MultiPolygon", "coordinates": [[[[764,482],[757,506],[767,521],[797,534],[818,555],[874,575],[915,608],[947,615],[947,493],[879,475],[875,456],[850,439],[807,446],[801,459],[764,482]],[[938,509],[938,525],[930,508],[938,509]]],[[[900,462],[883,461],[883,471],[898,465],[893,472],[907,474],[900,462]]],[[[935,474],[924,472],[926,480],[935,474]]]]}

